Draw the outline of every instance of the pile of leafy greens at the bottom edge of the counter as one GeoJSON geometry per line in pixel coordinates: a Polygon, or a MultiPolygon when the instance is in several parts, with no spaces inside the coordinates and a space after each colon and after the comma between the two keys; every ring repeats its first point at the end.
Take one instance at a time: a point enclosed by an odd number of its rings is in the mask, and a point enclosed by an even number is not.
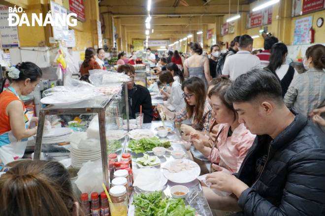
{"type": "Polygon", "coordinates": [[[195,209],[183,199],[162,199],[162,192],[133,196],[134,216],[195,216],[195,209]]]}

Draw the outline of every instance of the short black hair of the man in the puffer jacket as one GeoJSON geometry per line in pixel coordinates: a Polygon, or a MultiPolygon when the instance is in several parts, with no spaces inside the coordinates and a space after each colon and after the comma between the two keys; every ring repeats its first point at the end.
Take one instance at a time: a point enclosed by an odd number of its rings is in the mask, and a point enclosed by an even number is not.
{"type": "Polygon", "coordinates": [[[279,105],[284,103],[279,79],[261,68],[240,75],[225,95],[229,103],[249,102],[258,97],[272,99],[279,105]]]}

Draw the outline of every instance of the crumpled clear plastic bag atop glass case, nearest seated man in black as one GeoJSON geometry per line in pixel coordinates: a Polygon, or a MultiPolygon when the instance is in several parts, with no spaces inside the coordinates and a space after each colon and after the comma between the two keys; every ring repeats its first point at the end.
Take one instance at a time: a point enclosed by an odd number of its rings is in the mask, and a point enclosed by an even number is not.
{"type": "Polygon", "coordinates": [[[130,77],[126,74],[100,69],[90,70],[89,75],[89,81],[95,86],[107,86],[110,83],[131,81],[130,77]]]}

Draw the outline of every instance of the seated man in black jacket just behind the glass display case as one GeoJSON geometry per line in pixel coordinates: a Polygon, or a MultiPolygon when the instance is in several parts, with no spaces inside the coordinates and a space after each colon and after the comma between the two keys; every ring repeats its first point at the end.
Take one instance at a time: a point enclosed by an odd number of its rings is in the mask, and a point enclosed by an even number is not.
{"type": "Polygon", "coordinates": [[[153,109],[149,90],[142,85],[137,85],[134,83],[135,70],[132,65],[121,65],[117,72],[125,72],[126,75],[131,78],[131,81],[128,82],[130,119],[135,119],[135,113],[140,112],[140,106],[142,106],[142,113],[144,115],[143,123],[150,123],[153,118],[153,109]]]}

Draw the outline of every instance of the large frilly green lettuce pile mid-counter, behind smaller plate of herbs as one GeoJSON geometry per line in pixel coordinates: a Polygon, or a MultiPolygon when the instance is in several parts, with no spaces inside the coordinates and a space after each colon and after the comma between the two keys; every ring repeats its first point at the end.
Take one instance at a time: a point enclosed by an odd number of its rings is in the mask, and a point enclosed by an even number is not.
{"type": "Polygon", "coordinates": [[[158,147],[158,146],[169,148],[170,142],[169,141],[161,141],[157,137],[142,138],[139,140],[132,139],[129,142],[129,148],[135,153],[143,153],[143,152],[152,151],[153,148],[158,147]]]}

